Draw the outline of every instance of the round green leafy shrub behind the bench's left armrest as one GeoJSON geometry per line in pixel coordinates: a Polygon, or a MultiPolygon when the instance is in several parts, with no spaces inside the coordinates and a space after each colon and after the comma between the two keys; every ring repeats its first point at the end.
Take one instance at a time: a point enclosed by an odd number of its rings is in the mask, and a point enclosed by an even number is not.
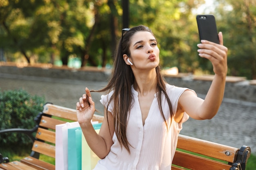
{"type": "MultiPolygon", "coordinates": [[[[0,91],[0,130],[9,128],[33,128],[34,118],[43,109],[45,98],[32,96],[27,91],[0,91]]],[[[24,134],[5,133],[0,135],[0,146],[28,144],[29,138],[24,134]]]]}

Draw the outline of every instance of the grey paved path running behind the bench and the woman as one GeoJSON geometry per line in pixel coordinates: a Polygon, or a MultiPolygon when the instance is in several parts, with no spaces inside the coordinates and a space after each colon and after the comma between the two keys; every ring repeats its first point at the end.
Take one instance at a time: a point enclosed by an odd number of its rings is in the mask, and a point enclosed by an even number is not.
{"type": "MultiPolygon", "coordinates": [[[[31,95],[44,96],[47,102],[75,108],[79,97],[84,93],[85,87],[98,90],[106,82],[86,82],[68,79],[51,79],[38,77],[9,77],[0,74],[0,88],[22,88],[31,95]]],[[[101,94],[94,93],[99,114],[103,113],[103,106],[99,99],[101,94]]],[[[200,97],[204,97],[200,95],[200,97]]],[[[189,119],[183,124],[181,134],[200,139],[234,146],[240,148],[247,145],[256,153],[256,103],[241,102],[233,99],[224,99],[218,114],[211,120],[198,121],[189,119]]]]}

